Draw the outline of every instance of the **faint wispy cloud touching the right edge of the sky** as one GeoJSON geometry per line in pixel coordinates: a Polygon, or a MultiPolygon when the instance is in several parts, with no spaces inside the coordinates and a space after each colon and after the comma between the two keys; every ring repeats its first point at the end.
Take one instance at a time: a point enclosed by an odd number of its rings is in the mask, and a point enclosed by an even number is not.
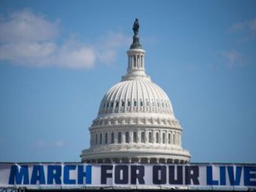
{"type": "Polygon", "coordinates": [[[241,41],[248,41],[256,38],[256,17],[244,22],[235,23],[228,29],[231,32],[244,32],[246,35],[241,41]]]}

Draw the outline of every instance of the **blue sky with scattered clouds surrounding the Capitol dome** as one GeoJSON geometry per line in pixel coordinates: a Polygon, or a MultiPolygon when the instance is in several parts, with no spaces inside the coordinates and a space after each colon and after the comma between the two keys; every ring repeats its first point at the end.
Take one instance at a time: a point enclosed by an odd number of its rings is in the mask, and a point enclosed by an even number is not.
{"type": "Polygon", "coordinates": [[[256,163],[255,1],[1,1],[0,161],[80,161],[140,20],[192,162],[256,163]]]}

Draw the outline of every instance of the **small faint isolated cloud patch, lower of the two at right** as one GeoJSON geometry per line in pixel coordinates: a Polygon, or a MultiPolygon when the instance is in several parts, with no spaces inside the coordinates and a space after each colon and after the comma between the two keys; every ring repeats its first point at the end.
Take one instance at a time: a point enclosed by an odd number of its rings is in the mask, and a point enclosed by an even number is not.
{"type": "Polygon", "coordinates": [[[239,51],[222,51],[221,55],[224,57],[224,62],[228,69],[233,69],[234,67],[242,67],[245,65],[244,55],[239,51]]]}

